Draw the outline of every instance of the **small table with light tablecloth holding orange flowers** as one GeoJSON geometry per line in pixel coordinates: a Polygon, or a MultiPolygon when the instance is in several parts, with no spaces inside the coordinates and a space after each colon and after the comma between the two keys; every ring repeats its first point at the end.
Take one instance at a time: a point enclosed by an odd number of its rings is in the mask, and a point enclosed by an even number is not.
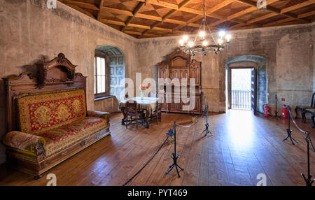
{"type": "Polygon", "coordinates": [[[152,113],[155,112],[156,104],[158,103],[159,98],[158,97],[144,97],[144,99],[141,99],[141,97],[134,97],[132,99],[127,99],[124,101],[119,102],[119,108],[121,112],[123,113],[124,117],[121,120],[121,124],[125,125],[126,122],[126,114],[125,114],[125,106],[127,101],[137,101],[138,103],[138,109],[143,112],[143,115],[141,116],[142,123],[145,124],[145,127],[147,129],[150,128],[149,123],[149,117],[151,117],[152,113]]]}

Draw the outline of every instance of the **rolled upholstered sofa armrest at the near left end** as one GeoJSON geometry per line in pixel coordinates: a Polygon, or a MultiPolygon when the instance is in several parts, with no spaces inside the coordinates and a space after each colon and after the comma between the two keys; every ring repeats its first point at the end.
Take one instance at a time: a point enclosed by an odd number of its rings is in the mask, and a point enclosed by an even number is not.
{"type": "Polygon", "coordinates": [[[3,137],[3,143],[11,148],[36,152],[36,155],[39,155],[43,153],[45,138],[20,131],[10,131],[3,137]]]}

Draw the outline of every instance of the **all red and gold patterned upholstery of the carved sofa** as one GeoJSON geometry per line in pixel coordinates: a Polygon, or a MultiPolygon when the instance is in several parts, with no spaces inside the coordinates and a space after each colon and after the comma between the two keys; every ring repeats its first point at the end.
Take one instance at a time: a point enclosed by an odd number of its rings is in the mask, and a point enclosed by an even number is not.
{"type": "Polygon", "coordinates": [[[75,145],[109,127],[109,113],[89,111],[83,90],[62,90],[16,97],[20,131],[11,131],[3,143],[18,149],[15,156],[34,161],[34,147],[43,144],[44,157],[75,145]]]}

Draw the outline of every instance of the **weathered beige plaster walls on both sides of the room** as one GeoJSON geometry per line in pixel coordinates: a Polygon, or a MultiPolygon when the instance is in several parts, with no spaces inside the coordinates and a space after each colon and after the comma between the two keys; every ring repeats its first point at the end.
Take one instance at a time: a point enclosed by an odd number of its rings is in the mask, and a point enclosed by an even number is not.
{"type": "MultiPolygon", "coordinates": [[[[137,40],[57,2],[48,9],[43,0],[0,0],[0,74],[18,74],[34,67],[42,57],[50,60],[63,52],[76,71],[87,76],[87,108],[113,111],[117,99],[94,102],[94,50],[113,45],[123,51],[125,76],[136,73],[158,78],[158,62],[179,46],[179,36],[137,40]],[[112,107],[110,107],[112,106],[112,107]]],[[[291,106],[309,104],[315,90],[314,23],[232,31],[230,50],[221,55],[196,55],[202,62],[202,92],[210,110],[225,112],[225,64],[232,57],[256,55],[267,58],[267,99],[274,94],[291,106]]],[[[0,97],[4,96],[3,88],[0,97]]],[[[0,99],[0,137],[5,134],[4,99],[0,99]]],[[[5,161],[0,145],[0,163],[5,161]]]]}

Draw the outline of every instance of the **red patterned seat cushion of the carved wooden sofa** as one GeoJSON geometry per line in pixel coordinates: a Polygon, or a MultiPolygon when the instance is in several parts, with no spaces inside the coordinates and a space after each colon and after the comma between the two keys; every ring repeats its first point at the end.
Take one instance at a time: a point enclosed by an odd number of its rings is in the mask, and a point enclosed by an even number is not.
{"type": "Polygon", "coordinates": [[[49,157],[106,127],[109,127],[107,120],[98,117],[84,117],[71,124],[36,135],[45,138],[45,157],[49,157]]]}

